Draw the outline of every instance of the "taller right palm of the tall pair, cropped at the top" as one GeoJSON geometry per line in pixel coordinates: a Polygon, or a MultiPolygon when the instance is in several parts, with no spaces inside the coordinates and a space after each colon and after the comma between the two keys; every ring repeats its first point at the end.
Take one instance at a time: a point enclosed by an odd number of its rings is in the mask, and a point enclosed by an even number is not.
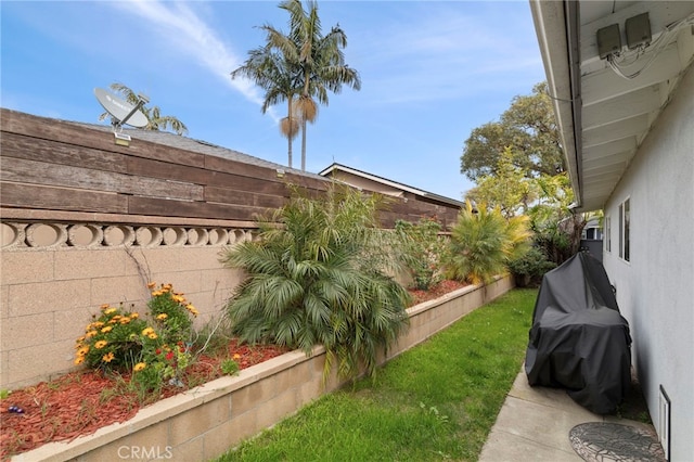
{"type": "Polygon", "coordinates": [[[293,56],[298,60],[299,78],[303,84],[298,101],[301,124],[301,170],[306,170],[306,124],[313,123],[318,115],[318,103],[327,105],[327,91],[339,93],[343,84],[354,90],[361,89],[359,73],[345,64],[342,51],[347,46],[347,36],[339,25],[333,26],[323,36],[318,16],[318,2],[307,1],[305,10],[301,0],[285,0],[280,8],[290,13],[288,41],[293,46],[293,56]]]}

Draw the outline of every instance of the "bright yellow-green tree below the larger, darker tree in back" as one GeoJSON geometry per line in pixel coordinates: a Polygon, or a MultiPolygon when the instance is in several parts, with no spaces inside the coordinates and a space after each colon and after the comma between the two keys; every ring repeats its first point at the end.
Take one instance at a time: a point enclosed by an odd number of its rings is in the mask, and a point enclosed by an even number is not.
{"type": "Polygon", "coordinates": [[[513,164],[510,146],[503,150],[494,175],[477,179],[477,185],[470,190],[466,198],[488,207],[499,207],[504,217],[525,214],[537,198],[537,187],[526,172],[513,164]]]}

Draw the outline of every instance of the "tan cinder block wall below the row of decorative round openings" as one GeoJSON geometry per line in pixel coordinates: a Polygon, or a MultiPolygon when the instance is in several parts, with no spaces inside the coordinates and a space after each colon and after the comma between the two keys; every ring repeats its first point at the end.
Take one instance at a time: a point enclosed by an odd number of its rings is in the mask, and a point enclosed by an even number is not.
{"type": "MultiPolygon", "coordinates": [[[[12,222],[2,223],[11,227],[12,222]]],[[[241,230],[236,235],[247,235],[241,230]]],[[[0,387],[18,388],[74,370],[75,339],[102,304],[146,313],[146,283],[171,283],[200,316],[219,318],[242,273],[219,261],[226,244],[99,246],[56,243],[3,248],[0,271],[0,387]]]]}

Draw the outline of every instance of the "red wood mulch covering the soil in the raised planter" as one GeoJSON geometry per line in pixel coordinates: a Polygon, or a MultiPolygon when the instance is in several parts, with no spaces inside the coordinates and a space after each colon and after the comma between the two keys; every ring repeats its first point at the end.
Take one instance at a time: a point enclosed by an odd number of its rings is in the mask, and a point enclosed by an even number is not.
{"type": "MultiPolygon", "coordinates": [[[[421,304],[464,287],[457,281],[442,281],[428,291],[409,292],[413,304],[421,304]]],[[[240,369],[246,369],[286,352],[277,346],[229,344],[227,351],[215,356],[201,356],[185,371],[184,382],[192,386],[218,378],[223,374],[220,364],[224,359],[236,359],[240,369]]],[[[124,377],[126,381],[128,376],[124,377]]],[[[160,399],[181,392],[166,387],[160,399]]],[[[13,392],[0,401],[0,459],[36,449],[50,441],[70,440],[90,435],[115,422],[125,422],[138,413],[143,405],[133,394],[116,388],[116,382],[95,371],[73,372],[49,383],[13,392]],[[113,390],[108,393],[108,390],[113,390]],[[16,406],[24,413],[10,412],[16,406]]]]}

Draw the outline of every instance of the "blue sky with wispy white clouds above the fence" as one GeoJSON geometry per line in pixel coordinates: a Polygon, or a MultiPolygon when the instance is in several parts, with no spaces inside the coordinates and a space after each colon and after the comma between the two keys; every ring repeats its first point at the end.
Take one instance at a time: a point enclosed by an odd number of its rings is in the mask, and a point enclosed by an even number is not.
{"type": "MultiPolygon", "coordinates": [[[[189,137],[286,165],[262,92],[231,80],[257,28],[288,30],[279,1],[7,1],[0,3],[0,105],[100,124],[94,88],[123,82],[189,128],[189,137]]],[[[544,72],[529,2],[318,2],[323,33],[347,35],[361,91],[330,94],[307,132],[307,170],[337,162],[461,200],[471,131],[498,120],[544,72]]],[[[300,137],[294,167],[300,166],[300,137]]]]}

